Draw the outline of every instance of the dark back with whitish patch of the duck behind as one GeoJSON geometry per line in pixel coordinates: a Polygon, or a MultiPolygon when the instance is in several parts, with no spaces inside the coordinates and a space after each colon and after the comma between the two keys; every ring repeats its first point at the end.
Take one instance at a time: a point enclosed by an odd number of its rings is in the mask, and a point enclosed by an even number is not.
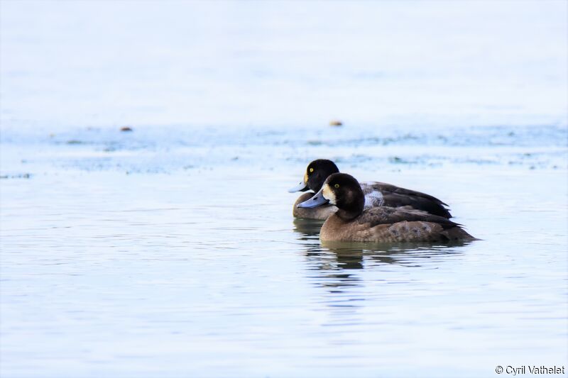
{"type": "Polygon", "coordinates": [[[445,207],[447,204],[430,194],[384,182],[361,182],[361,189],[365,195],[365,209],[376,206],[405,207],[452,218],[452,214],[445,207]]]}

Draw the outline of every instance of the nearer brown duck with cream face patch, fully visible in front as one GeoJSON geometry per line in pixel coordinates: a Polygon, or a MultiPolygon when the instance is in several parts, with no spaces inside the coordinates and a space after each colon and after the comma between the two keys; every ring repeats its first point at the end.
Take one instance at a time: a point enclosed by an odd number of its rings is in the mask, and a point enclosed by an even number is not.
{"type": "Polygon", "coordinates": [[[426,211],[376,206],[365,209],[365,194],[351,175],[334,173],[300,209],[333,205],[337,211],[320,230],[320,240],[338,242],[445,242],[476,240],[462,225],[426,211]]]}

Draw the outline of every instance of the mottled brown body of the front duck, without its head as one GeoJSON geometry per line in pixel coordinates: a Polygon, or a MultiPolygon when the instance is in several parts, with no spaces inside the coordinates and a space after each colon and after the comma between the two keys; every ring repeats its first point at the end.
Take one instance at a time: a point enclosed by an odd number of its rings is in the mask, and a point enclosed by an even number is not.
{"type": "Polygon", "coordinates": [[[435,242],[474,240],[457,223],[424,211],[377,207],[352,220],[327,218],[320,239],[353,242],[435,242]]]}

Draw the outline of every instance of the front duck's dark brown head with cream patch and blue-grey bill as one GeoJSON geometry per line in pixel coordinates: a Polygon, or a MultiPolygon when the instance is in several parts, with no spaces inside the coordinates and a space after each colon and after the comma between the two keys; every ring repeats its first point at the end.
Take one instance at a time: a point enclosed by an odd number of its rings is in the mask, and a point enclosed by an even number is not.
{"type": "Polygon", "coordinates": [[[359,182],[349,174],[334,173],[327,177],[322,188],[297,207],[312,208],[332,204],[339,209],[337,215],[351,219],[359,216],[365,206],[365,196],[359,182]]]}

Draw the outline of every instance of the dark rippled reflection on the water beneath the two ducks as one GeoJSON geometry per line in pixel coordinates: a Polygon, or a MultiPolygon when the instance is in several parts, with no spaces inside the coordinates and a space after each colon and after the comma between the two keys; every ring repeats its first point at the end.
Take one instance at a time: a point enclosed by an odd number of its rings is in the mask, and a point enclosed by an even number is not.
{"type": "MultiPolygon", "coordinates": [[[[440,264],[443,261],[439,260],[444,260],[444,255],[459,255],[459,246],[467,244],[320,242],[322,223],[296,218],[294,231],[306,258],[307,279],[324,290],[320,301],[329,309],[324,323],[327,326],[363,321],[359,308],[368,300],[368,294],[359,288],[366,286],[368,274],[365,276],[362,269],[371,271],[373,280],[384,280],[381,273],[397,269],[397,265],[420,267],[440,264]]],[[[384,294],[378,292],[373,295],[384,294]]]]}

